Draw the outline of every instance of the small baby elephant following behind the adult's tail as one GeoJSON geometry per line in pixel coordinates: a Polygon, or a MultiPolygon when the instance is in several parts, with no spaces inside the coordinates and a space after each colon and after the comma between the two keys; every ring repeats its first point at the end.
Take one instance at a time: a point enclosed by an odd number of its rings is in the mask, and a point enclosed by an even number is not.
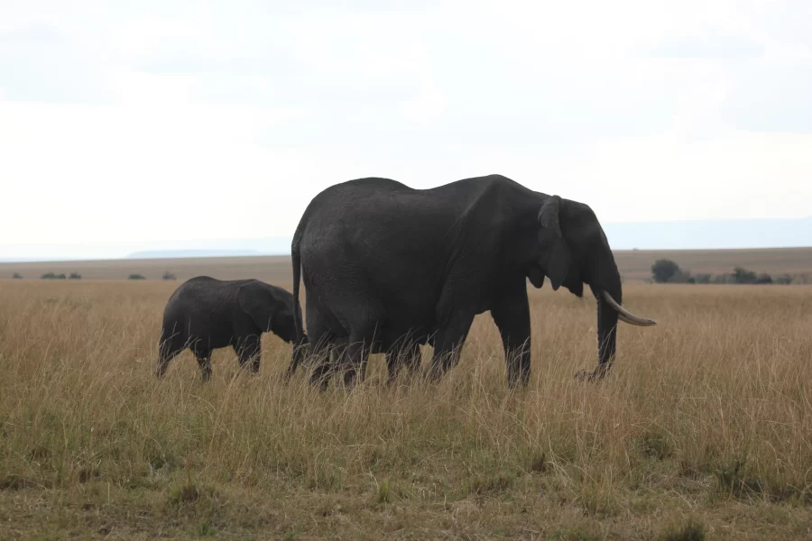
{"type": "MultiPolygon", "coordinates": [[[[189,348],[198,358],[203,381],[211,377],[211,351],[232,346],[240,366],[259,371],[260,338],[272,332],[293,343],[293,296],[286,290],[260,280],[217,280],[198,276],[180,285],[172,293],[163,311],[163,326],[158,342],[158,366],[161,378],[173,357],[189,348]]],[[[303,353],[304,336],[294,344],[303,353]]]]}

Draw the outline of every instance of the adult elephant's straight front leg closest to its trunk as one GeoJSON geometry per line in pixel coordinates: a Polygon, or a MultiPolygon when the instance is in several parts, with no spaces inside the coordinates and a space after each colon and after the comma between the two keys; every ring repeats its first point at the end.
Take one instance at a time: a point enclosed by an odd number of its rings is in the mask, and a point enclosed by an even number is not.
{"type": "Polygon", "coordinates": [[[503,295],[491,308],[491,316],[502,335],[508,387],[526,387],[531,372],[531,326],[527,287],[523,279],[521,288],[517,286],[503,295]]]}

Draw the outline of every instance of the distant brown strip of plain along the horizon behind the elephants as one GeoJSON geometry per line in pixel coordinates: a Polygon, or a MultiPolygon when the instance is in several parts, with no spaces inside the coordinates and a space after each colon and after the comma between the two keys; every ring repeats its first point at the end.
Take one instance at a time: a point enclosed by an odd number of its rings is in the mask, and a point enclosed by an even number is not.
{"type": "MultiPolygon", "coordinates": [[[[770,274],[812,274],[812,248],[770,248],[765,250],[661,250],[614,252],[618,269],[627,282],[651,279],[651,264],[658,259],[677,261],[682,269],[694,274],[732,272],[737,265],[770,274]]],[[[46,272],[66,275],[78,272],[85,280],[125,280],[141,274],[148,280],[160,280],[165,271],[178,280],[208,274],[221,280],[256,278],[272,283],[293,280],[290,256],[248,256],[182,258],[167,260],[48,261],[0,263],[0,279],[19,272],[26,279],[39,279],[46,272]]]]}

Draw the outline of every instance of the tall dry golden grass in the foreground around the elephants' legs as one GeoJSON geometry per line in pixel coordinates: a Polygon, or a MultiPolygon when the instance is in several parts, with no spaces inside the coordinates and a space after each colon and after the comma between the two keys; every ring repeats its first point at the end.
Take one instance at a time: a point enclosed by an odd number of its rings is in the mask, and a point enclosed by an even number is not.
{"type": "Polygon", "coordinates": [[[527,390],[485,315],[437,387],[321,394],[272,335],[154,380],[178,284],[0,281],[0,539],[812,538],[810,287],[629,286],[600,383],[594,301],[534,290],[527,390]]]}

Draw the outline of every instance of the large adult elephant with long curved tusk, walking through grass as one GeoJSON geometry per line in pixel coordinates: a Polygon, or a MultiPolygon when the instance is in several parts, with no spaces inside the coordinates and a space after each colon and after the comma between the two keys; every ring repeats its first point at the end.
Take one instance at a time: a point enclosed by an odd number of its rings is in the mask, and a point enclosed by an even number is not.
{"type": "MultiPolygon", "coordinates": [[[[620,274],[589,206],[549,196],[501,175],[430,189],[392,179],[355,179],[319,193],[291,243],[294,305],[300,276],[307,289],[313,353],[346,343],[345,381],[353,386],[368,353],[400,355],[433,338],[426,375],[436,381],[459,361],[474,316],[489,310],[499,328],[508,385],[531,373],[531,319],[526,279],[549,277],[597,299],[598,365],[603,378],[615,354],[618,319],[655,325],[622,306],[620,274]],[[410,335],[411,341],[402,336],[410,335]]],[[[302,333],[297,321],[297,336],[302,333]]],[[[420,350],[418,349],[418,352],[420,350]]],[[[291,361],[291,371],[299,360],[291,361]]],[[[317,369],[318,372],[318,369],[317,369]]],[[[318,373],[314,374],[314,376],[318,373]]]]}

